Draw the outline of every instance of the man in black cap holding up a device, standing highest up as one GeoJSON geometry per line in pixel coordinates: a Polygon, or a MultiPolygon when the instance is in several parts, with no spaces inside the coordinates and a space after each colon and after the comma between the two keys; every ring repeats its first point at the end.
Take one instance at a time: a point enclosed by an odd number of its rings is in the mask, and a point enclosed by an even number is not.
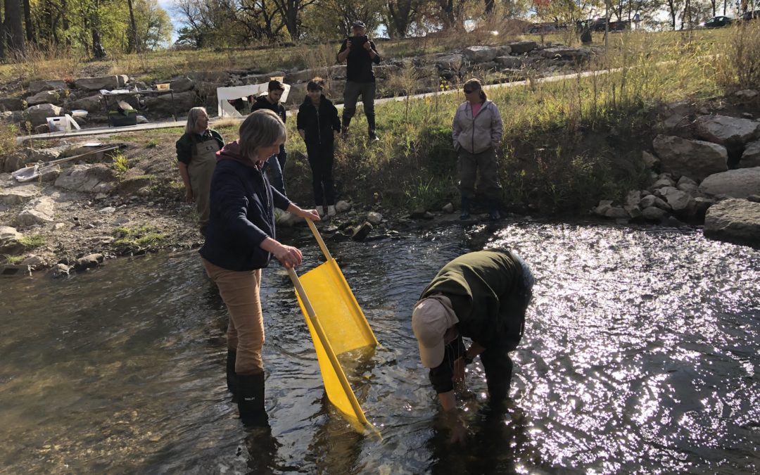
{"type": "Polygon", "coordinates": [[[346,88],[343,93],[343,131],[348,131],[351,118],[356,113],[356,101],[362,97],[364,115],[367,116],[369,140],[378,140],[375,135],[375,73],[372,63],[380,63],[380,55],[375,43],[367,38],[367,28],[362,21],[351,25],[351,35],[340,46],[338,62],[346,62],[346,88]]]}

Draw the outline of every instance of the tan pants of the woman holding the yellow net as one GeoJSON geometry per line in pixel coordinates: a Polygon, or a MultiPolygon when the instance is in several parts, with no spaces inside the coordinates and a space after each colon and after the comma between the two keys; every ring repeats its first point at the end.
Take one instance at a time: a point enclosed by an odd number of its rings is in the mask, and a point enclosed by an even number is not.
{"type": "Polygon", "coordinates": [[[264,347],[264,315],[261,314],[261,269],[228,271],[203,259],[204,268],[219,287],[230,312],[227,347],[237,351],[235,372],[255,375],[264,372],[261,348],[264,347]]]}

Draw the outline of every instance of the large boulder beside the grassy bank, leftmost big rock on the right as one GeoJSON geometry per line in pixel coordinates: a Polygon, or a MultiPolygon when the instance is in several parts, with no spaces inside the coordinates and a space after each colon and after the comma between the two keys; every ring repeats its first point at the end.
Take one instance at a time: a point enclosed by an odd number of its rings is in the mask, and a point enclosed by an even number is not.
{"type": "Polygon", "coordinates": [[[675,135],[657,135],[653,146],[666,172],[701,180],[728,169],[728,151],[722,145],[675,135]]]}

